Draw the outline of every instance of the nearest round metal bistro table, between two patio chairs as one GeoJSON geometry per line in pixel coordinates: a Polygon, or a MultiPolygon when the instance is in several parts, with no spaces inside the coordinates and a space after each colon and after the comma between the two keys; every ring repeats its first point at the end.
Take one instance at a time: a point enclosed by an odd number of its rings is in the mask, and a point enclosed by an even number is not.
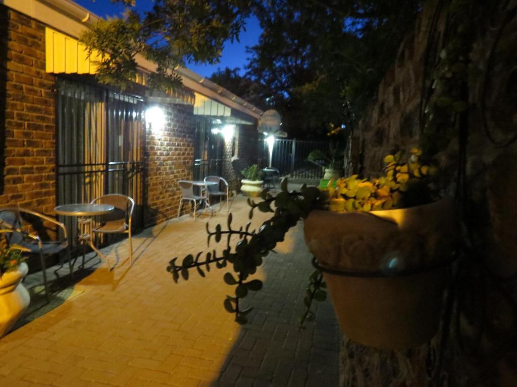
{"type": "MultiPolygon", "coordinates": [[[[98,215],[108,214],[113,211],[115,207],[110,204],[63,204],[58,205],[54,208],[54,211],[58,215],[63,216],[75,216],[79,224],[79,241],[83,246],[83,266],[84,256],[86,253],[86,243],[101,257],[102,260],[108,263],[108,267],[111,270],[111,264],[108,257],[102,254],[94,244],[93,236],[93,219],[92,217],[98,215]]],[[[75,262],[74,262],[75,263],[75,262]]],[[[73,270],[73,264],[72,264],[73,270]]]]}

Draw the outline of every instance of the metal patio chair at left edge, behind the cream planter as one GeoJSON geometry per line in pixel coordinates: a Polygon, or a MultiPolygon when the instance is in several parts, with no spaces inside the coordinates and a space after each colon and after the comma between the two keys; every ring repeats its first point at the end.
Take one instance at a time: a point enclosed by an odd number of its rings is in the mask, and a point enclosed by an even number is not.
{"type": "MultiPolygon", "coordinates": [[[[45,263],[45,259],[64,251],[67,257],[68,267],[70,269],[70,276],[72,276],[70,246],[68,244],[68,234],[65,225],[54,218],[29,209],[7,207],[0,208],[0,228],[11,230],[10,233],[4,233],[9,246],[18,245],[24,248],[29,254],[39,255],[41,270],[43,273],[45,297],[47,298],[47,301],[49,301],[47,264],[45,263]],[[34,225],[36,223],[38,229],[47,229],[43,222],[49,222],[52,223],[52,225],[57,226],[57,240],[42,240],[39,235],[31,233],[30,230],[28,230],[29,225],[34,225]]],[[[60,256],[60,262],[61,266],[63,266],[63,256],[60,256]]]]}

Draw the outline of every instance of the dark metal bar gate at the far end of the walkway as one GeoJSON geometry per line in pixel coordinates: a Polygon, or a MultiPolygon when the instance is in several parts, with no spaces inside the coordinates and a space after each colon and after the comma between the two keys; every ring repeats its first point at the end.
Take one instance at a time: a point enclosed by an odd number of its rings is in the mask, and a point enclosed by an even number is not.
{"type": "Polygon", "coordinates": [[[316,149],[327,151],[329,142],[277,138],[273,146],[271,167],[277,168],[282,176],[295,179],[321,179],[323,166],[307,159],[309,153],[316,149]]]}

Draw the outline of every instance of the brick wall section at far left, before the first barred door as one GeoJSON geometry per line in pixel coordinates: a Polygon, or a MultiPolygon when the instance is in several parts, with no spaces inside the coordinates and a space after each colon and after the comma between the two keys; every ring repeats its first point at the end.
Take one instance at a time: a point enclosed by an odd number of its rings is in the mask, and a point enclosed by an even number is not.
{"type": "Polygon", "coordinates": [[[55,206],[55,77],[45,73],[44,25],[0,6],[0,205],[55,206]]]}

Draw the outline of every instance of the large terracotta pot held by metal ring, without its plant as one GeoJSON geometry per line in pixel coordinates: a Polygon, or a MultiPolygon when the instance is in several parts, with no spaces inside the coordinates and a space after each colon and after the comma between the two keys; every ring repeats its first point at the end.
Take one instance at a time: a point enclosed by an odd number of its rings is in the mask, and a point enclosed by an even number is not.
{"type": "Polygon", "coordinates": [[[348,338],[404,349],[435,335],[458,235],[451,200],[370,213],[313,211],[304,232],[348,338]]]}

